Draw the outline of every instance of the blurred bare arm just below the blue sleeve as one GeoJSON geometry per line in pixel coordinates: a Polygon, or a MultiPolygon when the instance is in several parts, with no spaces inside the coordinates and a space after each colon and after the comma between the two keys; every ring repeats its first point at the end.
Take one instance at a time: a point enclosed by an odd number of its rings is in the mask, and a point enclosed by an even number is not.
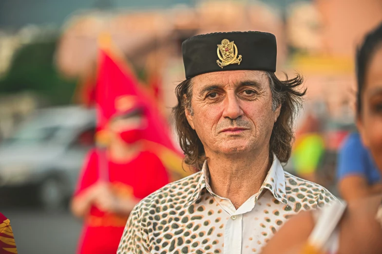
{"type": "Polygon", "coordinates": [[[338,183],[338,188],[344,200],[357,200],[367,196],[382,193],[382,184],[369,185],[363,176],[347,176],[338,183]]]}

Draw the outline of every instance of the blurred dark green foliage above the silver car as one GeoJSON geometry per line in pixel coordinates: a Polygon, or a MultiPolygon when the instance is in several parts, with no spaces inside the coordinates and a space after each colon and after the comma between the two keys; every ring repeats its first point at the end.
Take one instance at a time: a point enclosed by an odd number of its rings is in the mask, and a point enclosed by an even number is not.
{"type": "Polygon", "coordinates": [[[34,42],[20,48],[8,73],[0,80],[0,93],[33,91],[51,105],[71,103],[76,81],[58,73],[54,65],[56,42],[34,42]]]}

